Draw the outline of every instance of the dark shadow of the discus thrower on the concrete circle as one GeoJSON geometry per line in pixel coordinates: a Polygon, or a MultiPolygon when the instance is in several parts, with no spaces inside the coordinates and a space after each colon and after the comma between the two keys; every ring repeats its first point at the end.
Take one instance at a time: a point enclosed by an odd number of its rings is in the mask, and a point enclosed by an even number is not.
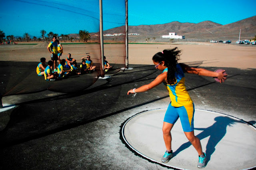
{"type": "MultiPolygon", "coordinates": [[[[216,121],[212,126],[208,128],[194,128],[195,130],[203,130],[201,133],[196,135],[200,140],[203,138],[206,138],[210,136],[208,143],[206,145],[206,158],[207,162],[210,161],[211,155],[215,151],[215,147],[220,142],[220,140],[225,136],[226,134],[226,128],[227,126],[232,126],[234,123],[243,123],[242,121],[237,121],[235,119],[232,119],[230,117],[225,117],[225,116],[219,116],[214,119],[216,121]]],[[[186,142],[182,144],[174,153],[173,157],[176,156],[178,153],[180,153],[182,150],[188,148],[191,146],[190,142],[186,142]]],[[[204,148],[203,148],[204,150],[204,148]]],[[[196,150],[195,150],[196,152],[196,150]]],[[[206,162],[206,163],[207,163],[206,162]]]]}

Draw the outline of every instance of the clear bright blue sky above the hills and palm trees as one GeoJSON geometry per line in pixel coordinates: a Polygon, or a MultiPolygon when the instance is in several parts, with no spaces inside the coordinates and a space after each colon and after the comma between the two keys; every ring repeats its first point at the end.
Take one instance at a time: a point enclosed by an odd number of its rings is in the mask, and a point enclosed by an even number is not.
{"type": "MultiPolygon", "coordinates": [[[[125,0],[102,0],[104,30],[123,26],[125,0]]],[[[0,0],[0,30],[5,35],[40,36],[98,32],[99,0],[0,0]]],[[[130,26],[206,20],[230,24],[256,15],[256,0],[128,0],[130,26]]]]}

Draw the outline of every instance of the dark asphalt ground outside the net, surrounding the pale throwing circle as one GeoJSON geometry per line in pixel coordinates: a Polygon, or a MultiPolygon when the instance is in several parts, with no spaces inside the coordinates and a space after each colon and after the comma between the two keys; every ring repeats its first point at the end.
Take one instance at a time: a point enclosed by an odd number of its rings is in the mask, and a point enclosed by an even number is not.
{"type": "MultiPolygon", "coordinates": [[[[150,83],[160,74],[152,65],[129,68],[108,81],[98,79],[84,91],[3,97],[3,104],[18,105],[0,112],[0,168],[166,169],[134,154],[120,136],[122,124],[133,115],[170,103],[164,85],[128,96],[129,89],[150,83]]],[[[185,74],[195,108],[255,126],[256,69],[225,69],[228,79],[222,84],[211,77],[185,74]]]]}

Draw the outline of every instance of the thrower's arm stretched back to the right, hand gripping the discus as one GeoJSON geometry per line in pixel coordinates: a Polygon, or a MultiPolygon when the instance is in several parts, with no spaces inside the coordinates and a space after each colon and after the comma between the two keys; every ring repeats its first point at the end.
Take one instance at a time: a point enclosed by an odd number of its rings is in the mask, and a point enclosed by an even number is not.
{"type": "Polygon", "coordinates": [[[203,75],[203,76],[208,76],[208,77],[216,77],[220,80],[220,83],[224,82],[227,79],[227,74],[224,73],[225,70],[216,73],[214,71],[210,71],[210,70],[206,70],[206,69],[202,69],[202,68],[189,67],[188,65],[186,65],[184,63],[180,63],[180,65],[182,66],[184,72],[186,72],[186,73],[193,73],[193,74],[203,75]]]}

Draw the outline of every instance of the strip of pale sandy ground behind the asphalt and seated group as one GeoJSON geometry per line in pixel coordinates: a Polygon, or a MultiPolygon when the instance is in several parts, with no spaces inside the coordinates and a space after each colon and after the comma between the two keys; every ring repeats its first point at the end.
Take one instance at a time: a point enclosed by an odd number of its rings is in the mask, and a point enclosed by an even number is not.
{"type": "MultiPolygon", "coordinates": [[[[40,61],[41,57],[50,59],[46,49],[48,43],[37,45],[0,45],[0,61],[40,61]]],[[[62,44],[64,53],[72,54],[77,61],[90,53],[97,62],[100,56],[98,44],[62,44]]],[[[256,45],[231,45],[218,43],[184,42],[173,44],[129,44],[129,64],[152,64],[152,56],[162,51],[178,47],[182,50],[180,62],[200,61],[203,67],[256,68],[256,45]]],[[[109,63],[122,63],[125,59],[124,44],[104,44],[104,55],[109,63]]]]}

